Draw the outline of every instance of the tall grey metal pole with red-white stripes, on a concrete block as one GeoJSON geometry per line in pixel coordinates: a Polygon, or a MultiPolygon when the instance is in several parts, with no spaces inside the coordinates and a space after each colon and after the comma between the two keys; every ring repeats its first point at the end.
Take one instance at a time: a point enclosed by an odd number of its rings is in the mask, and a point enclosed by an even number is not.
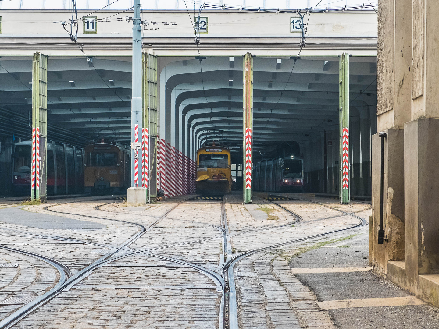
{"type": "MultiPolygon", "coordinates": [[[[140,0],[134,0],[133,15],[133,97],[131,98],[131,142],[134,142],[134,126],[139,125],[139,140],[142,136],[142,28],[140,26],[140,0]]],[[[137,155],[135,149],[131,149],[131,186],[134,185],[134,163],[138,158],[139,180],[141,179],[141,150],[137,155]]]]}

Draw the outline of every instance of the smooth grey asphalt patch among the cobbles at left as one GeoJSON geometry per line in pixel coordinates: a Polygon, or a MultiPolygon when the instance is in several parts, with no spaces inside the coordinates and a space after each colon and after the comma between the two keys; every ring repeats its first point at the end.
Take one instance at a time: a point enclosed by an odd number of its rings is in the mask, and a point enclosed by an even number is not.
{"type": "Polygon", "coordinates": [[[106,227],[94,222],[25,211],[23,207],[17,206],[0,209],[0,222],[35,227],[37,229],[103,229],[106,227]]]}

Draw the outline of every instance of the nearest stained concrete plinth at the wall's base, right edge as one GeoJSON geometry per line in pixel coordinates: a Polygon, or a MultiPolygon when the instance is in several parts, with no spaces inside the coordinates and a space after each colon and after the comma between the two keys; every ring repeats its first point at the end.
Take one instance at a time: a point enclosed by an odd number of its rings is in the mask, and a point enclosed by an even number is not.
{"type": "Polygon", "coordinates": [[[439,119],[407,122],[404,129],[406,272],[439,273],[439,119]]]}

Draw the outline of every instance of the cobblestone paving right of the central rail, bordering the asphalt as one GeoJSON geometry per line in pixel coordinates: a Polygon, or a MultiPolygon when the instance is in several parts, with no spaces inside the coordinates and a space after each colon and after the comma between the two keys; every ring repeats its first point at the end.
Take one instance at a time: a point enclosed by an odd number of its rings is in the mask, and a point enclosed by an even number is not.
{"type": "MultiPolygon", "coordinates": [[[[353,202],[340,205],[331,199],[306,199],[309,201],[277,202],[302,217],[299,223],[284,225],[293,222],[294,218],[275,204],[253,197],[253,203],[258,205],[259,211],[267,212],[271,219],[265,222],[255,221],[248,211],[249,206],[241,204],[238,198],[231,197],[227,204],[227,218],[232,233],[233,251],[240,254],[306,236],[346,229],[360,222],[358,218],[337,210],[356,213],[355,215],[364,219],[371,213],[369,204],[353,202]],[[276,227],[279,225],[284,226],[276,227]],[[249,228],[258,230],[245,233],[249,228]]],[[[254,207],[250,207],[252,212],[255,211],[254,207]]],[[[252,254],[238,262],[234,273],[240,328],[335,328],[327,311],[320,311],[314,294],[291,274],[288,261],[313,244],[347,235],[349,234],[339,232],[307,239],[252,254]]]]}

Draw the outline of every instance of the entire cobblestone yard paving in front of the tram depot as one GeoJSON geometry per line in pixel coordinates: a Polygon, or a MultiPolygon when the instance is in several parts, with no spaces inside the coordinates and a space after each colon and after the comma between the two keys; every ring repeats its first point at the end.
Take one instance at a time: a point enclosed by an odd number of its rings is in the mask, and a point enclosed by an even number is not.
{"type": "MultiPolygon", "coordinates": [[[[244,205],[241,195],[227,195],[224,204],[232,255],[346,229],[360,223],[349,214],[367,218],[371,212],[364,203],[340,205],[337,200],[302,197],[307,201],[278,201],[302,217],[293,223],[294,216],[263,198],[255,196],[252,205],[244,205]]],[[[24,210],[0,209],[0,234],[7,237],[1,245],[51,257],[65,264],[72,275],[118,250],[140,227],[146,228],[113,261],[101,264],[14,328],[221,327],[219,275],[223,275],[227,257],[222,204],[186,199],[171,198],[142,207],[79,199],[24,210]],[[2,212],[11,210],[12,216],[36,212],[43,219],[2,222],[2,212]]],[[[292,242],[237,262],[239,328],[335,328],[327,311],[318,307],[315,295],[291,273],[288,261],[349,232],[292,242]]],[[[59,280],[56,269],[35,257],[5,250],[0,250],[0,257],[4,263],[19,263],[18,268],[0,268],[0,301],[20,294],[36,297],[59,280]]],[[[0,303],[0,319],[20,306],[0,303]]]]}

